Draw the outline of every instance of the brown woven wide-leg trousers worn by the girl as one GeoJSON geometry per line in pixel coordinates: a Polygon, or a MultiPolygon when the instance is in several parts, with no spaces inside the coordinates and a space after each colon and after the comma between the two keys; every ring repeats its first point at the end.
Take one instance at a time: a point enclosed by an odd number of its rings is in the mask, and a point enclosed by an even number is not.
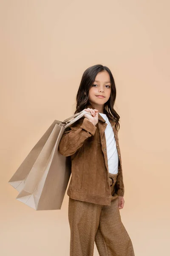
{"type": "Polygon", "coordinates": [[[69,197],[70,256],[134,256],[133,245],[119,212],[115,193],[118,174],[109,173],[111,205],[94,204],[69,197]]]}

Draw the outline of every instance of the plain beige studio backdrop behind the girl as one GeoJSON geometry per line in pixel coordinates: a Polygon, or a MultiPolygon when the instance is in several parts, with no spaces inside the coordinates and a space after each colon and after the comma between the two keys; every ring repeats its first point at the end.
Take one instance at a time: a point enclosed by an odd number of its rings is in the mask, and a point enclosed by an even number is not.
{"type": "Polygon", "coordinates": [[[116,82],[122,222],[136,256],[170,255],[169,9],[168,0],[0,1],[1,256],[69,255],[68,195],[61,210],[36,212],[8,180],[54,119],[73,114],[94,64],[116,82]]]}

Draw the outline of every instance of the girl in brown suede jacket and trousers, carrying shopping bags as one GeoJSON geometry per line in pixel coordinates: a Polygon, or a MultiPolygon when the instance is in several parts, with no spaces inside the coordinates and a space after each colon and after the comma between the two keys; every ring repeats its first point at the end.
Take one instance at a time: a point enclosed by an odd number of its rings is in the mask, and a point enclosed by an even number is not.
{"type": "Polygon", "coordinates": [[[59,143],[59,152],[71,156],[70,256],[93,256],[94,242],[100,256],[134,256],[119,212],[125,190],[115,99],[108,67],[94,65],[85,70],[74,114],[85,110],[91,115],[70,125],[59,143]]]}

